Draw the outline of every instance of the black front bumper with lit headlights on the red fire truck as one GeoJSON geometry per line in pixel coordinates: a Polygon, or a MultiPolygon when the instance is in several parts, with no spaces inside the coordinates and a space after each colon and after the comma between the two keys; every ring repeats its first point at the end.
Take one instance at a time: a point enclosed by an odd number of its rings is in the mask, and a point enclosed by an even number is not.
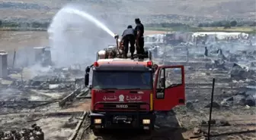
{"type": "Polygon", "coordinates": [[[155,124],[155,114],[138,113],[91,113],[91,129],[146,129],[151,130],[155,124]]]}

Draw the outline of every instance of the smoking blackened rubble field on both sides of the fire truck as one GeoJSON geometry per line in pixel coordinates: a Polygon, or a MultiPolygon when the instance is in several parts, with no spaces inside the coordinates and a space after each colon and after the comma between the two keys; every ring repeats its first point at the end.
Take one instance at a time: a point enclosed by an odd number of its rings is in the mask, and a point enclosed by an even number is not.
{"type": "MultiPolygon", "coordinates": [[[[251,42],[254,45],[255,40],[251,42]]],[[[197,39],[196,43],[190,39],[183,39],[182,42],[175,42],[174,45],[155,43],[146,46],[153,50],[155,64],[185,66],[187,104],[164,113],[158,112],[155,128],[161,131],[163,127],[170,127],[171,130],[168,132],[172,132],[174,127],[182,127],[196,134],[205,132],[213,78],[216,79],[211,121],[213,126],[232,126],[229,129],[221,129],[225,132],[234,129],[236,125],[235,121],[230,120],[243,119],[246,116],[246,121],[250,119],[253,121],[252,115],[256,113],[254,110],[256,51],[252,50],[251,46],[248,49],[247,45],[247,42],[241,40],[203,39],[200,43],[200,39],[197,39]],[[208,50],[207,54],[205,48],[208,50]],[[174,118],[177,118],[181,124],[178,121],[174,122],[174,118]],[[203,124],[201,124],[202,120],[203,124]]],[[[38,53],[43,50],[43,48],[35,49],[38,53]]],[[[68,138],[72,135],[74,122],[77,121],[67,122],[71,120],[70,118],[78,116],[76,111],[90,108],[90,101],[86,100],[90,94],[84,87],[83,80],[85,64],[56,67],[50,61],[49,54],[38,56],[39,58],[35,58],[37,63],[31,62],[25,67],[18,64],[12,67],[12,61],[8,62],[8,77],[2,78],[0,84],[1,128],[11,131],[9,128],[11,126],[20,128],[32,121],[37,124],[42,123],[43,126],[41,124],[40,126],[46,133],[45,136],[49,136],[48,139],[56,139],[55,136],[64,134],[61,138],[68,138]],[[46,113],[66,114],[66,116],[60,117],[58,114],[57,117],[50,118],[43,115],[46,113]],[[35,114],[42,115],[36,117],[35,114]]],[[[220,129],[216,128],[213,128],[213,131],[217,132],[220,129]]],[[[235,127],[237,128],[238,126],[235,127]]]]}

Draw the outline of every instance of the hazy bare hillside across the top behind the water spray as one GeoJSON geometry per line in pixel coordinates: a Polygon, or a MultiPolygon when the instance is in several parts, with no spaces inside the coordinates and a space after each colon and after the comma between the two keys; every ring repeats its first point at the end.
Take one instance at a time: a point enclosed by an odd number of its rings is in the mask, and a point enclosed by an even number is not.
{"type": "MultiPolygon", "coordinates": [[[[0,19],[50,20],[67,3],[67,0],[2,0],[0,19]]],[[[80,2],[81,3],[81,2],[80,2]]],[[[85,0],[83,5],[89,13],[113,20],[143,17],[147,22],[197,22],[198,20],[219,20],[226,18],[256,18],[255,0],[85,0]],[[195,17],[198,17],[195,18],[195,17]]]]}

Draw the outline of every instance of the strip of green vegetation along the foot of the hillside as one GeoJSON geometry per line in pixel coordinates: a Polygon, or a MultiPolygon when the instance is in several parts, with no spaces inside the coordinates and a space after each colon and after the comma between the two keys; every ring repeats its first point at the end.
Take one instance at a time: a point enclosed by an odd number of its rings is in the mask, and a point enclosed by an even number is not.
{"type": "MultiPolygon", "coordinates": [[[[18,22],[11,20],[0,20],[0,30],[37,30],[45,31],[50,22],[27,21],[18,22]]],[[[144,25],[146,30],[180,31],[180,32],[244,32],[256,33],[256,22],[221,20],[211,23],[199,23],[198,25],[187,25],[184,23],[149,23],[144,25]]]]}

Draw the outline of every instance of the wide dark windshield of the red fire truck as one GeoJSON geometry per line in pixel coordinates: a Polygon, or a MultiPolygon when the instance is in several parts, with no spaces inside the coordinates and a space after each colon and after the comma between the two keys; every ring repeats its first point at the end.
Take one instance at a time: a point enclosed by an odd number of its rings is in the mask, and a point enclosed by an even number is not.
{"type": "Polygon", "coordinates": [[[152,73],[149,71],[94,71],[93,89],[152,89],[152,73]]]}

